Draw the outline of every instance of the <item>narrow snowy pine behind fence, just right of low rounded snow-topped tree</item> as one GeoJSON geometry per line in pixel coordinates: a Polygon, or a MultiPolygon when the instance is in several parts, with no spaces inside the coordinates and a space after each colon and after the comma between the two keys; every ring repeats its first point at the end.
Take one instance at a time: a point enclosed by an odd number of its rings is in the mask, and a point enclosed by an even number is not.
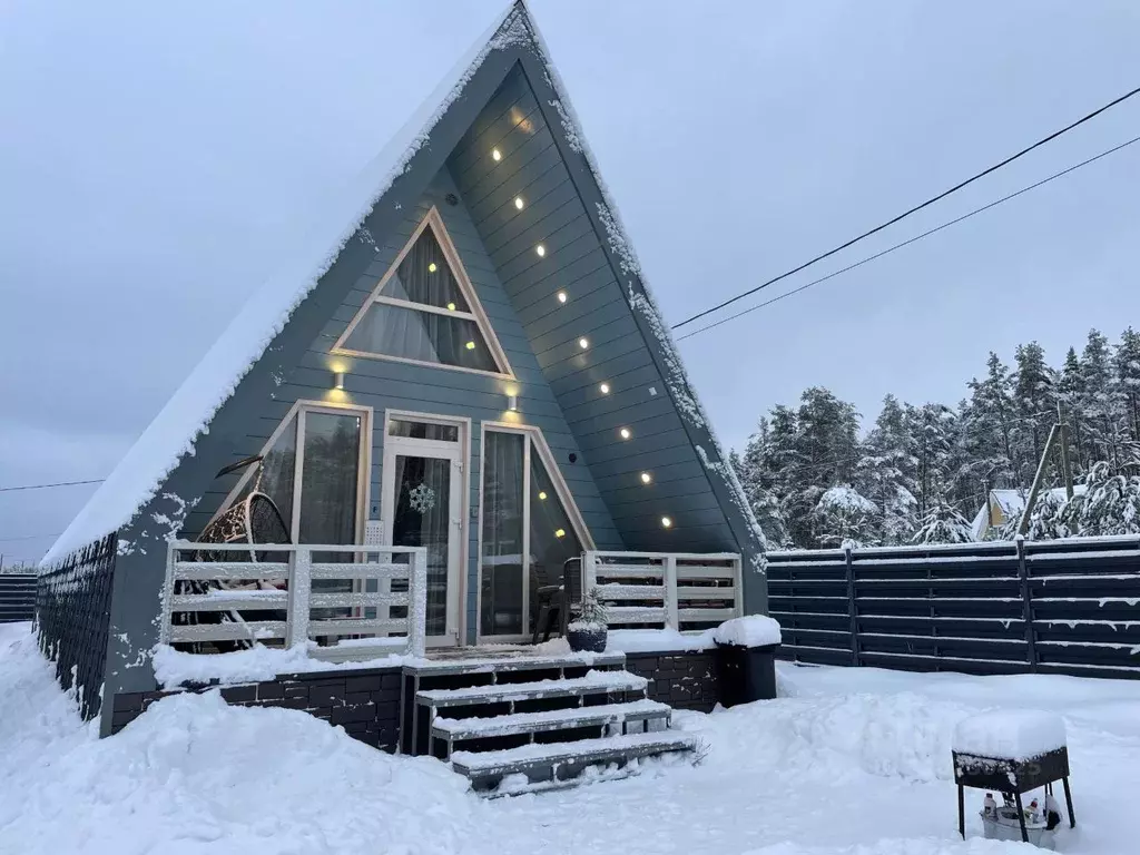
{"type": "Polygon", "coordinates": [[[883,398],[856,473],[860,491],[879,507],[878,539],[888,546],[910,543],[918,528],[918,462],[907,412],[895,396],[883,398]]]}

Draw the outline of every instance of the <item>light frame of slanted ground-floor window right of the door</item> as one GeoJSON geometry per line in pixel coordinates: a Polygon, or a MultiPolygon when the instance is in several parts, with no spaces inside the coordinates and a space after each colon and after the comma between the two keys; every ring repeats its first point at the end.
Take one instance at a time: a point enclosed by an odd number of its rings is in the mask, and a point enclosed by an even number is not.
{"type": "Polygon", "coordinates": [[[475,644],[480,644],[483,641],[488,643],[514,643],[514,642],[529,642],[532,637],[531,633],[526,632],[527,627],[530,625],[530,465],[531,465],[531,454],[534,450],[538,450],[538,459],[542,462],[544,469],[546,470],[546,475],[551,479],[551,483],[554,487],[554,492],[557,495],[559,502],[562,503],[562,508],[567,513],[567,518],[570,520],[570,526],[573,528],[575,535],[578,537],[578,543],[581,545],[584,551],[592,551],[597,548],[594,544],[594,538],[591,536],[589,527],[586,526],[586,521],[581,516],[581,512],[578,510],[578,504],[573,499],[573,495],[570,492],[570,488],[567,486],[565,479],[562,478],[562,471],[559,469],[557,462],[554,459],[554,455],[551,451],[549,446],[546,445],[546,437],[543,435],[543,431],[537,425],[527,424],[512,424],[510,422],[480,422],[479,425],[479,537],[477,538],[477,552],[475,552],[475,644]],[[522,628],[523,632],[516,635],[484,635],[482,632],[482,613],[483,613],[483,486],[484,486],[484,473],[487,471],[487,445],[483,438],[488,432],[498,433],[515,433],[521,434],[524,438],[522,447],[522,495],[524,496],[526,504],[523,506],[523,526],[522,526],[522,628]]]}

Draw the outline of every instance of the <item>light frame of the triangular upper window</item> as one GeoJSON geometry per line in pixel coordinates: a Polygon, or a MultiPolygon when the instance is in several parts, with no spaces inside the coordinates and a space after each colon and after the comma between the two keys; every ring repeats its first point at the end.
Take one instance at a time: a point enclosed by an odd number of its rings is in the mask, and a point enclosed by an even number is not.
{"type": "Polygon", "coordinates": [[[432,205],[424,218],[416,226],[415,230],[412,233],[412,237],[404,244],[404,249],[400,250],[396,260],[391,263],[384,275],[380,278],[376,287],[373,288],[372,293],[360,306],[356,316],[349,323],[344,333],[336,340],[336,343],[332,348],[332,353],[337,356],[350,356],[359,357],[361,359],[383,359],[393,363],[405,363],[406,365],[423,365],[429,368],[442,368],[445,370],[456,370],[466,372],[469,374],[482,374],[484,376],[500,377],[505,380],[514,380],[514,370],[511,368],[511,363],[506,358],[506,351],[503,350],[503,345],[499,344],[498,336],[495,335],[495,329],[491,326],[490,318],[487,317],[487,312],[483,311],[482,303],[480,303],[479,298],[475,295],[474,285],[472,285],[471,279],[467,277],[467,271],[459,260],[459,252],[455,249],[455,244],[451,242],[451,236],[447,231],[447,227],[443,225],[443,218],[440,215],[439,210],[432,205]],[[459,288],[459,293],[463,294],[464,300],[467,301],[467,307],[470,311],[451,311],[440,306],[431,306],[429,303],[416,303],[410,300],[400,300],[399,298],[386,296],[381,294],[384,286],[388,284],[389,279],[396,275],[399,270],[400,264],[404,263],[404,259],[407,258],[408,253],[412,252],[412,247],[415,246],[416,242],[423,235],[424,229],[431,229],[432,235],[435,237],[435,242],[439,244],[440,250],[443,252],[443,259],[451,270],[451,276],[455,277],[456,285],[459,288]],[[368,310],[381,303],[384,306],[393,306],[400,309],[408,309],[412,311],[425,311],[434,315],[442,315],[448,318],[459,318],[463,320],[470,320],[474,323],[479,333],[483,336],[483,342],[487,344],[487,350],[491,355],[491,360],[498,367],[498,370],[484,370],[483,368],[469,368],[463,365],[448,365],[446,363],[431,363],[423,359],[412,359],[410,357],[391,356],[389,353],[374,353],[367,350],[355,350],[352,348],[345,347],[349,337],[356,331],[357,326],[364,319],[368,310]]]}

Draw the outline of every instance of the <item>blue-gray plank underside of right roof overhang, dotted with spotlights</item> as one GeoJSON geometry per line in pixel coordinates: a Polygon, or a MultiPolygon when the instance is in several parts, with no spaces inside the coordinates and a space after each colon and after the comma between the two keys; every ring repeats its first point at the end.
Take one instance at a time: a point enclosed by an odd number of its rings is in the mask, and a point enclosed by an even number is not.
{"type": "Polygon", "coordinates": [[[448,158],[459,195],[626,546],[735,551],[554,132],[562,129],[547,125],[526,74],[514,68],[448,158]],[[621,427],[633,439],[620,439],[621,427]],[[646,471],[649,487],[641,482],[646,471]]]}

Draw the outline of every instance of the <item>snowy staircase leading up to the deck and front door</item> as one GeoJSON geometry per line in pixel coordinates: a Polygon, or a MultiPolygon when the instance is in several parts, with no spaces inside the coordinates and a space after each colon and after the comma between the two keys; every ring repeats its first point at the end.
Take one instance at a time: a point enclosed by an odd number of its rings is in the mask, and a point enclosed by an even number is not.
{"type": "Polygon", "coordinates": [[[405,749],[449,762],[486,796],[622,777],[640,758],[691,751],[693,738],[669,730],[673,710],[624,666],[620,653],[408,666],[405,749]]]}

